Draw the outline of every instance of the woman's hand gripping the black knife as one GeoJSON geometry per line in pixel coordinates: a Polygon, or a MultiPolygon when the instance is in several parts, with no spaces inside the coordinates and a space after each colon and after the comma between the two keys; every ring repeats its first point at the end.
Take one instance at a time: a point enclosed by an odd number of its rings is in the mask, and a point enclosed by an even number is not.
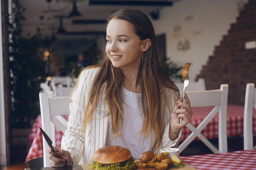
{"type": "Polygon", "coordinates": [[[49,160],[50,160],[50,165],[51,167],[64,167],[67,165],[72,165],[72,158],[71,158],[71,154],[69,153],[69,151],[65,151],[59,147],[55,147],[53,146],[57,152],[57,156],[59,158],[56,157],[55,153],[52,153],[51,148],[48,147],[47,151],[50,154],[49,155],[49,160]]]}

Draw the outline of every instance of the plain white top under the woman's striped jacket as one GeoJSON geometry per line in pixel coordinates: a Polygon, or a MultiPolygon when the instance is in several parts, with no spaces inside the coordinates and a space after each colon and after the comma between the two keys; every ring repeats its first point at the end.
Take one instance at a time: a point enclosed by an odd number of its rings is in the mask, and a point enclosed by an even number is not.
{"type": "MultiPolygon", "coordinates": [[[[151,136],[147,137],[143,143],[143,135],[140,131],[143,126],[144,115],[141,105],[141,94],[123,90],[123,129],[118,137],[115,138],[115,145],[122,146],[131,151],[131,155],[135,160],[144,151],[149,151],[151,145],[151,136]],[[144,144],[144,145],[143,145],[144,144]]],[[[114,146],[114,138],[112,131],[112,121],[109,119],[108,133],[106,135],[106,146],[114,146]]]]}

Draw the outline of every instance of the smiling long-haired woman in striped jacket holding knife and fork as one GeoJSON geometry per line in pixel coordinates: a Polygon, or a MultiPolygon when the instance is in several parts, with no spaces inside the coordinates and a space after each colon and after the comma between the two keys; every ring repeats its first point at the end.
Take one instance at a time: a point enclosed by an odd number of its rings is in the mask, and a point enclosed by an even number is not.
{"type": "Polygon", "coordinates": [[[123,9],[108,19],[106,61],[82,71],[71,96],[68,129],[51,151],[54,167],[92,162],[98,148],[126,147],[135,159],[151,150],[177,146],[180,129],[192,111],[188,97],[163,73],[156,56],[150,19],[137,10],[123,9]],[[183,109],[180,109],[183,107],[183,109]],[[183,118],[179,124],[179,118],[183,118]]]}

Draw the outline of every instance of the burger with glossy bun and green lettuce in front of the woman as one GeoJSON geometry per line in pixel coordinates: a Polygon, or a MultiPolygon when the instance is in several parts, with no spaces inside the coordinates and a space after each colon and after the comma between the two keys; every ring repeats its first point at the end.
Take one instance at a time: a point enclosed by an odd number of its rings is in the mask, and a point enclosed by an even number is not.
{"type": "Polygon", "coordinates": [[[131,152],[121,146],[107,146],[98,149],[93,154],[93,163],[90,167],[93,169],[133,169],[134,159],[131,152]]]}

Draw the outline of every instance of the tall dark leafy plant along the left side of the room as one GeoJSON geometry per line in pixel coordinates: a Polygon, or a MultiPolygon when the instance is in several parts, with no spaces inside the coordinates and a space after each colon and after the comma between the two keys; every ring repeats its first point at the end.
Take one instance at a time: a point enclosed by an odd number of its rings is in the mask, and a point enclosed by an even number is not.
{"type": "Polygon", "coordinates": [[[46,62],[40,52],[43,43],[40,30],[36,35],[20,37],[20,20],[24,19],[22,11],[25,9],[18,0],[13,1],[12,7],[9,23],[11,125],[13,128],[26,128],[30,126],[30,120],[40,113],[40,83],[46,81],[46,62]]]}

